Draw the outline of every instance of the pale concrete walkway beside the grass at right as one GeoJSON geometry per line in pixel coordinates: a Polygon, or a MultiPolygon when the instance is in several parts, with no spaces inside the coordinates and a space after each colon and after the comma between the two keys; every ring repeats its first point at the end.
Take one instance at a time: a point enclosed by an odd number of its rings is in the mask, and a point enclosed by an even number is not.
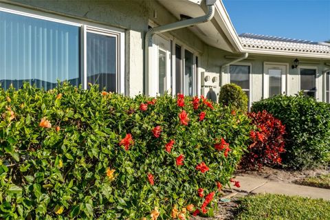
{"type": "Polygon", "coordinates": [[[235,180],[240,182],[241,187],[236,188],[232,186],[232,189],[238,192],[298,195],[301,197],[311,197],[313,199],[330,200],[330,190],[325,188],[285,184],[248,175],[237,176],[235,180]]]}

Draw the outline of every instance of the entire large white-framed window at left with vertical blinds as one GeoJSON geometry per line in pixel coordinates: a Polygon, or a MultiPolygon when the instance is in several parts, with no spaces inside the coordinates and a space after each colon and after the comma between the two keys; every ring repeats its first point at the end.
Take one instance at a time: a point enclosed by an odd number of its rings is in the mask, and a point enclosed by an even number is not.
{"type": "Polygon", "coordinates": [[[2,87],[27,81],[52,89],[69,80],[123,92],[124,32],[74,22],[0,8],[2,87]]]}

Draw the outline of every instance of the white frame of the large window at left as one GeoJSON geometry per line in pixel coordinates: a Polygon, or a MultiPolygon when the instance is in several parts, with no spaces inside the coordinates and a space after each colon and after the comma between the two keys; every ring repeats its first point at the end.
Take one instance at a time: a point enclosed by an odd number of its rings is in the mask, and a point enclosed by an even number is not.
{"type": "Polygon", "coordinates": [[[114,28],[108,25],[93,23],[79,18],[65,17],[64,15],[52,14],[50,12],[43,12],[42,10],[34,10],[23,8],[17,5],[10,5],[7,3],[0,3],[0,11],[12,14],[18,14],[25,17],[32,17],[34,19],[42,19],[45,21],[53,21],[56,23],[63,23],[66,25],[73,25],[80,28],[80,84],[83,89],[87,89],[87,32],[94,32],[95,34],[103,34],[116,37],[116,92],[124,94],[124,65],[125,65],[125,32],[120,28],[114,28]]]}

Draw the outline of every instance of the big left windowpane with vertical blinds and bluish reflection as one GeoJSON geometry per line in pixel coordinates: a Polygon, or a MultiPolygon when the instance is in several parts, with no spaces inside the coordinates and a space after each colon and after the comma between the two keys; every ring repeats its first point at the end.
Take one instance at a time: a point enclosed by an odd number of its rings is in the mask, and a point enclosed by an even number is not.
{"type": "Polygon", "coordinates": [[[52,89],[57,80],[79,80],[79,28],[0,12],[0,83],[52,89]]]}

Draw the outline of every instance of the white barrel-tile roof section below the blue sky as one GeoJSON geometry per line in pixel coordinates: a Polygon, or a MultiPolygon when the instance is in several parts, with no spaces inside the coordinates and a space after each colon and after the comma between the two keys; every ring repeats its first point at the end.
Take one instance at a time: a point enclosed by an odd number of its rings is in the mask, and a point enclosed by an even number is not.
{"type": "Polygon", "coordinates": [[[239,38],[246,49],[330,54],[330,44],[324,42],[318,43],[261,34],[240,34],[239,38]]]}

